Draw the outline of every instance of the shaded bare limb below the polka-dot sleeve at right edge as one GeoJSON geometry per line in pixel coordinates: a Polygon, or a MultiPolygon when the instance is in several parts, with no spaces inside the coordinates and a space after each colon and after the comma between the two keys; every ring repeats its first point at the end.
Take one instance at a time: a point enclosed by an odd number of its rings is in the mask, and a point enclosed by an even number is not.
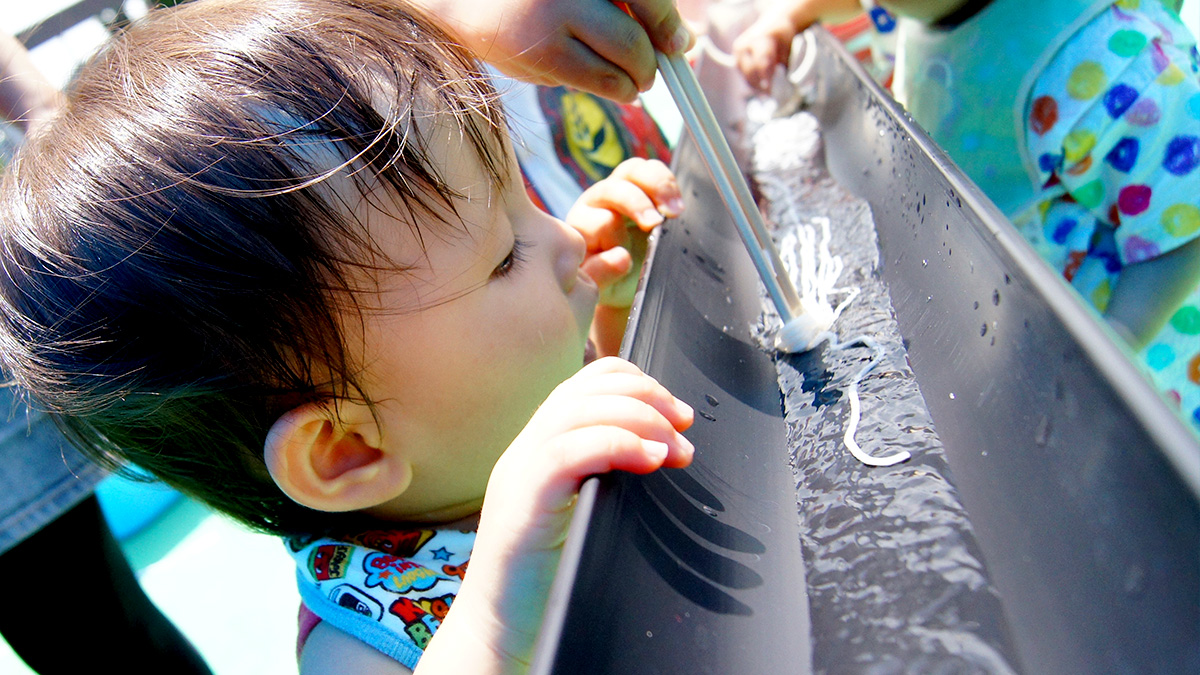
{"type": "Polygon", "coordinates": [[[1112,288],[1104,317],[1141,351],[1200,285],[1200,239],[1170,253],[1127,265],[1112,288]]]}

